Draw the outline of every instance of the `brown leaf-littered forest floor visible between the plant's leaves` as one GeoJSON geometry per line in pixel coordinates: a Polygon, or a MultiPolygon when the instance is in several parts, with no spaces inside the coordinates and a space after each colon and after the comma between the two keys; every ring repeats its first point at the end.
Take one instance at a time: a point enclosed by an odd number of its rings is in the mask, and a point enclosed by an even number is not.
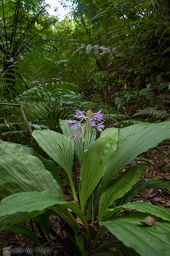
{"type": "MultiPolygon", "coordinates": [[[[155,165],[155,166],[146,166],[144,168],[144,171],[139,179],[139,182],[152,180],[152,179],[159,179],[159,180],[170,182],[170,167],[167,167],[166,169],[162,170],[164,166],[167,165],[167,163],[170,163],[170,140],[164,140],[163,142],[159,143],[159,145],[157,145],[155,148],[149,149],[146,152],[140,154],[135,160],[137,163],[146,163],[149,161],[155,165]]],[[[130,167],[130,165],[128,165],[128,167],[130,167]]],[[[74,180],[75,180],[75,175],[74,175],[74,180]]],[[[67,200],[71,201],[72,195],[70,193],[67,180],[65,180],[65,182],[62,183],[62,187],[65,192],[67,200]]],[[[152,204],[155,204],[170,210],[170,192],[168,192],[167,189],[144,190],[140,192],[138,195],[136,195],[136,197],[133,198],[132,201],[137,201],[137,200],[141,200],[143,202],[151,202],[152,204]]],[[[131,211],[136,211],[136,210],[131,210],[131,211]]],[[[127,213],[124,211],[124,214],[127,214],[127,213]]],[[[45,244],[45,242],[48,242],[46,238],[45,238],[46,240],[45,239],[43,240],[43,237],[41,236],[38,230],[36,231],[34,222],[31,223],[30,221],[26,221],[24,222],[24,224],[26,224],[28,227],[34,228],[40,240],[42,240],[42,243],[45,244]]],[[[74,253],[72,253],[74,244],[71,242],[71,238],[68,237],[67,230],[69,229],[69,227],[67,226],[67,224],[59,219],[54,219],[50,217],[50,227],[51,227],[51,239],[53,239],[54,248],[57,256],[74,255],[74,253]]],[[[116,241],[116,238],[114,238],[112,235],[109,236],[109,233],[102,239],[102,242],[111,242],[111,241],[116,241]]],[[[46,246],[49,248],[48,244],[46,246]]],[[[32,244],[31,241],[28,238],[24,237],[23,235],[14,233],[11,230],[3,230],[0,232],[0,253],[1,253],[0,255],[3,255],[3,256],[26,255],[27,247],[35,248],[34,244],[32,244]],[[7,249],[4,250],[4,248],[7,248],[7,249]],[[22,251],[23,254],[17,253],[16,251],[17,248],[23,248],[23,251],[22,251]],[[10,253],[10,250],[8,249],[11,250],[11,253],[10,253]]],[[[121,255],[116,248],[111,248],[109,250],[121,255]]],[[[27,255],[31,255],[31,252],[30,251],[27,252],[27,255]]],[[[37,251],[36,253],[34,253],[34,255],[43,255],[43,254],[40,254],[40,252],[37,251]]]]}

